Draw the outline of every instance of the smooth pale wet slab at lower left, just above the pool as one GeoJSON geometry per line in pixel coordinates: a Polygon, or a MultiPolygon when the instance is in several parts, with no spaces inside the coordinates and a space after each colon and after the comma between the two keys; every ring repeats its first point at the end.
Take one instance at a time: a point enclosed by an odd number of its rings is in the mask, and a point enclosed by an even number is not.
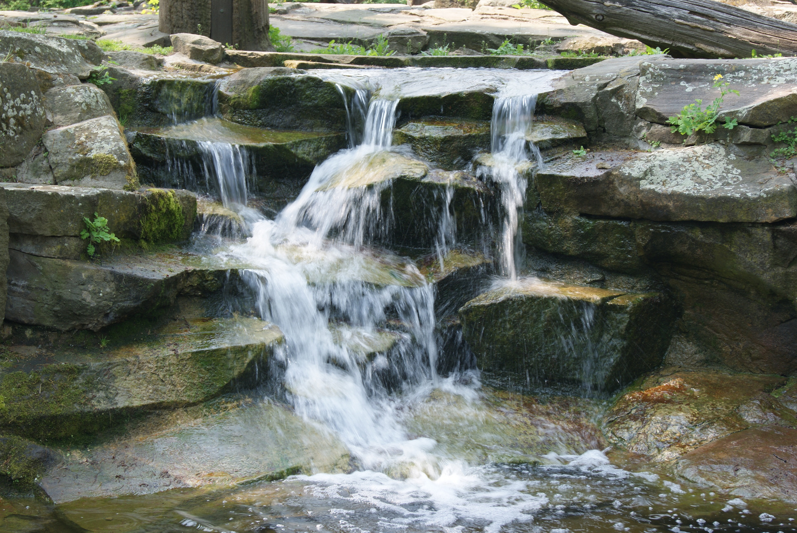
{"type": "Polygon", "coordinates": [[[179,412],[176,420],[136,428],[100,447],[71,449],[41,479],[41,488],[65,504],[71,522],[92,527],[84,517],[104,501],[92,498],[347,471],[343,443],[288,407],[248,401],[245,407],[221,404],[207,410],[210,414],[179,412]]]}

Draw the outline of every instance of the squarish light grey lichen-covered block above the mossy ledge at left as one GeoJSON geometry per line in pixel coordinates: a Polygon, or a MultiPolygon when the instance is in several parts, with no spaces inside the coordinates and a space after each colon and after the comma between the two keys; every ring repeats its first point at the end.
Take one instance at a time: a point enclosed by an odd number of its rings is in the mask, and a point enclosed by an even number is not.
{"type": "Polygon", "coordinates": [[[128,143],[111,115],[49,130],[42,142],[58,185],[138,188],[128,143]]]}

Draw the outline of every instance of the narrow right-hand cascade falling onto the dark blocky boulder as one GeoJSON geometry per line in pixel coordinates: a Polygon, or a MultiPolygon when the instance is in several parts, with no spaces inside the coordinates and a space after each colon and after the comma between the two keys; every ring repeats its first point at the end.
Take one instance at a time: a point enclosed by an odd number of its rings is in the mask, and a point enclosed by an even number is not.
{"type": "Polygon", "coordinates": [[[493,119],[490,123],[493,160],[490,166],[482,166],[480,177],[493,180],[500,190],[501,236],[497,243],[501,274],[510,279],[517,278],[523,242],[520,236],[520,216],[526,199],[526,178],[518,172],[518,165],[534,157],[542,165],[540,150],[526,137],[531,130],[537,95],[501,96],[493,103],[493,119]]]}

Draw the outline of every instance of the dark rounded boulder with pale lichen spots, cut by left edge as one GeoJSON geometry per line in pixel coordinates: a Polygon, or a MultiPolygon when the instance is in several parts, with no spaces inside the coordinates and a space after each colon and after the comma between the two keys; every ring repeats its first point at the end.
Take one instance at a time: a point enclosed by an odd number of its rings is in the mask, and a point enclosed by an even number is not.
{"type": "Polygon", "coordinates": [[[0,167],[19,165],[41,138],[45,129],[41,100],[36,76],[29,68],[0,63],[0,167]]]}

